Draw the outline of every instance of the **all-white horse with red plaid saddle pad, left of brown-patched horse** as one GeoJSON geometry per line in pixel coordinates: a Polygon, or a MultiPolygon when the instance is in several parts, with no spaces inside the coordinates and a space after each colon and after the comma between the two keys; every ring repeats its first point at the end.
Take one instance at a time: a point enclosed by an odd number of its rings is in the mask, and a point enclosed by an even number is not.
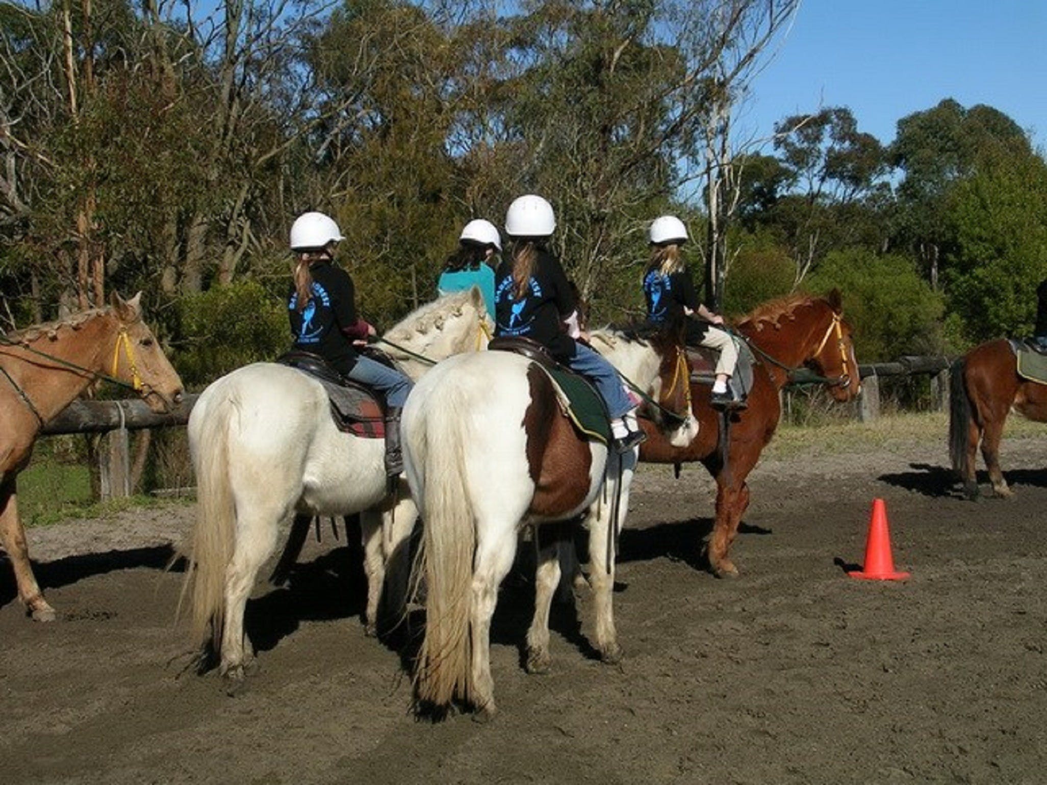
{"type": "MultiPolygon", "coordinates": [[[[422,359],[483,349],[489,330],[483,296],[472,289],[415,311],[385,339],[395,344],[388,354],[417,379],[429,366],[422,359]]],[[[383,440],[335,427],[319,382],[275,363],[233,371],[200,396],[188,436],[198,513],[183,598],[188,596],[193,633],[204,645],[210,627],[222,675],[242,681],[253,657],[249,642],[245,653],[247,597],[276,546],[280,526],[295,515],[361,513],[369,633],[377,624],[386,570],[386,605],[393,613],[402,611],[415,504],[402,478],[389,493],[383,440]]]]}

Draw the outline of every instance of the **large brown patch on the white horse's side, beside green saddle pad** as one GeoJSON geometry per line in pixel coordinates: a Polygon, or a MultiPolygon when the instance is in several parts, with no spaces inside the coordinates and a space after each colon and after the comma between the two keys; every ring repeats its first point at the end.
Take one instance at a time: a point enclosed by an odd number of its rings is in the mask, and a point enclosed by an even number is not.
{"type": "Polygon", "coordinates": [[[577,509],[589,490],[593,455],[560,410],[553,383],[543,371],[527,372],[531,404],[524,412],[528,472],[534,481],[530,513],[556,516],[577,509]]]}

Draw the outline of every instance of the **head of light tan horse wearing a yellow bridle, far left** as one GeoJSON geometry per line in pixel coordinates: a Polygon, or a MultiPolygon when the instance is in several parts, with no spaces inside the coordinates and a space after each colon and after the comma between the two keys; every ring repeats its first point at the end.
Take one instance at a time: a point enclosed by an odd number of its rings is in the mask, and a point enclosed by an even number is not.
{"type": "Polygon", "coordinates": [[[153,331],[141,318],[141,292],[124,299],[116,292],[110,297],[115,319],[111,375],[128,382],[157,413],[174,409],[185,388],[153,331]]]}

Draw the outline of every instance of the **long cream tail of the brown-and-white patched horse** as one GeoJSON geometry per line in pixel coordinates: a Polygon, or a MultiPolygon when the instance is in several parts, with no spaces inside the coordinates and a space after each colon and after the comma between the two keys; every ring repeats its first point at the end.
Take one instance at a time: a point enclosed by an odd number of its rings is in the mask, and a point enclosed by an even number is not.
{"type": "MultiPolygon", "coordinates": [[[[425,638],[415,670],[420,711],[442,712],[459,698],[471,702],[473,552],[476,530],[466,487],[466,448],[470,443],[464,396],[452,390],[439,405],[404,412],[408,476],[425,525],[416,563],[425,579],[425,638]],[[410,466],[413,465],[413,466],[410,466]]],[[[408,401],[408,407],[410,402],[408,401]]]]}

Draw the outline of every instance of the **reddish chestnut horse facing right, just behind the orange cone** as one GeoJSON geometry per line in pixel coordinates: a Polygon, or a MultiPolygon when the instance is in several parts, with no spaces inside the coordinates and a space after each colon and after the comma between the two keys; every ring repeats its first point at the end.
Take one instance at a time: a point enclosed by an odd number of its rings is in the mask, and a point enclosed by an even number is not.
{"type": "Polygon", "coordinates": [[[727,461],[720,445],[720,416],[709,404],[710,387],[691,385],[692,409],[701,424],[690,446],[671,446],[659,430],[644,425],[648,440],[640,459],[655,464],[701,462],[716,480],[716,522],[707,546],[709,566],[718,577],[734,577],[737,567],[728,557],[749,506],[745,477],[778,427],[778,391],[792,372],[806,366],[824,378],[838,401],[859,394],[860,379],[851,329],[844,320],[840,292],[827,297],[793,295],[767,302],[741,319],[737,329],[756,356],[749,406],[728,414],[727,461]]]}

